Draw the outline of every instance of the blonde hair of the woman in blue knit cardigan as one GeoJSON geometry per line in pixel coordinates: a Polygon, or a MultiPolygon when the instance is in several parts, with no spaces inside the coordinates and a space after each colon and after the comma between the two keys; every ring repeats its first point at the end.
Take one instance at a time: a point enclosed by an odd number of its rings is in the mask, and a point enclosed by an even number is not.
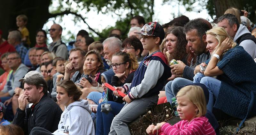
{"type": "MultiPolygon", "coordinates": [[[[223,27],[212,28],[212,29],[210,29],[210,30],[208,30],[208,31],[206,32],[206,35],[208,35],[208,34],[214,36],[215,39],[217,39],[218,42],[219,42],[218,45],[215,47],[215,49],[214,49],[212,55],[216,53],[216,51],[217,51],[217,49],[219,48],[221,42],[224,41],[227,37],[230,39],[229,41],[230,41],[230,43],[231,43],[231,48],[234,48],[234,47],[236,46],[236,42],[234,42],[233,39],[230,38],[230,36],[228,35],[228,32],[227,32],[223,27]]],[[[231,48],[230,48],[230,49],[231,49],[231,48]]],[[[223,53],[223,55],[224,55],[228,50],[229,50],[229,49],[225,50],[224,53],[223,53]]],[[[222,56],[223,56],[223,55],[222,55],[222,56]]],[[[220,59],[220,60],[221,60],[221,59],[220,59]]]]}

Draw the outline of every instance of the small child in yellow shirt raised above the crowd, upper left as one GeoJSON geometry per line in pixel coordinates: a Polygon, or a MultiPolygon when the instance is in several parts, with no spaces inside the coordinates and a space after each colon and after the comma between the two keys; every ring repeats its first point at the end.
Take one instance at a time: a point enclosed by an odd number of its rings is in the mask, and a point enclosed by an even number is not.
{"type": "Polygon", "coordinates": [[[28,17],[26,15],[18,15],[16,17],[16,25],[19,27],[18,30],[21,33],[21,41],[24,43],[24,46],[29,47],[30,40],[29,40],[29,32],[26,27],[27,23],[28,23],[28,17]]]}

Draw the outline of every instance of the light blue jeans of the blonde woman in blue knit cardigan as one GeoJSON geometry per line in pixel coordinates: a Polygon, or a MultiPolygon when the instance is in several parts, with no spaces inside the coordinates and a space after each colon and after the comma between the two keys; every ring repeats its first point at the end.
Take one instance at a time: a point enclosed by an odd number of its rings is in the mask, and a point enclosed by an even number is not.
{"type": "Polygon", "coordinates": [[[194,83],[202,83],[209,90],[209,102],[207,104],[207,110],[212,112],[214,99],[219,95],[221,81],[210,76],[204,76],[202,73],[197,73],[194,76],[194,83]]]}

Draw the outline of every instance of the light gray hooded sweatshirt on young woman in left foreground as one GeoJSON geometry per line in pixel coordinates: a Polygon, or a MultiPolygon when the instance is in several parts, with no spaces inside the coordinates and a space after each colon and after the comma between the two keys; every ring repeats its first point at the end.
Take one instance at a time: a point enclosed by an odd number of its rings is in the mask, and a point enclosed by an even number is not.
{"type": "Polygon", "coordinates": [[[91,110],[87,100],[80,99],[70,103],[61,114],[58,130],[54,135],[95,135],[91,110]]]}

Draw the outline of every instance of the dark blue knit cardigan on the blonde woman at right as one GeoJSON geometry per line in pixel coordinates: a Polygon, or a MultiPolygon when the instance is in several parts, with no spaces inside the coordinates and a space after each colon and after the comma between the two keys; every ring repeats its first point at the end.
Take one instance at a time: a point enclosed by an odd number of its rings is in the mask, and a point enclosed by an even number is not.
{"type": "MultiPolygon", "coordinates": [[[[208,64],[209,60],[207,61],[208,64]]],[[[256,97],[256,63],[242,46],[236,46],[217,64],[224,74],[217,77],[221,81],[219,95],[214,108],[237,118],[244,119],[251,101],[251,91],[256,97]]],[[[256,98],[253,99],[256,102],[256,98]]],[[[247,118],[256,115],[256,103],[247,118]]]]}

